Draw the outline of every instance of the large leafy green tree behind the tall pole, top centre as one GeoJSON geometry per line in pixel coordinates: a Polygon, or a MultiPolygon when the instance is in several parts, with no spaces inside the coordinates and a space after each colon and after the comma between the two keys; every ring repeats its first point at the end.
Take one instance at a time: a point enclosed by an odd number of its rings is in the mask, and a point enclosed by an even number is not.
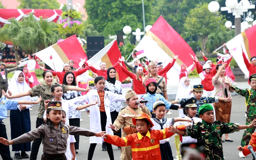
{"type": "MultiPolygon", "coordinates": [[[[144,0],[146,25],[152,25],[159,16],[152,13],[154,3],[144,0]]],[[[129,25],[133,31],[143,28],[141,0],[86,0],[84,8],[90,23],[104,36],[117,35],[124,42],[124,26],[129,25]]]]}

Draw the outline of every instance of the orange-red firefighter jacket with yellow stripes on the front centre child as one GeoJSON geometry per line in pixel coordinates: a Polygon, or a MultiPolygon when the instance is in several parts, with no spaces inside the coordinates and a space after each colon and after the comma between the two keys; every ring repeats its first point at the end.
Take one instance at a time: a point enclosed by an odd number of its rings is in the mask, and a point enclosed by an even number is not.
{"type": "MultiPolygon", "coordinates": [[[[185,125],[180,125],[177,129],[184,130],[185,125]]],[[[113,145],[118,144],[117,146],[120,147],[131,145],[133,160],[161,160],[159,140],[164,140],[174,134],[168,131],[170,130],[167,128],[150,130],[145,137],[139,132],[137,134],[129,134],[123,138],[108,134],[108,138],[104,139],[104,141],[113,145]]]]}

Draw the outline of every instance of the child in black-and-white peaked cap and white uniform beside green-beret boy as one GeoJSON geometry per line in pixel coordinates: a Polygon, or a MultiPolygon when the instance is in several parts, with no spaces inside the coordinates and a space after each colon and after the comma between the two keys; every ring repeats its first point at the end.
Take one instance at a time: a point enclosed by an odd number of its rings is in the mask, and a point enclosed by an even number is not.
{"type": "MultiPolygon", "coordinates": [[[[195,98],[191,98],[188,99],[186,102],[184,102],[181,106],[181,108],[183,108],[183,113],[184,115],[186,115],[184,118],[189,119],[189,120],[194,120],[193,122],[176,122],[175,125],[179,126],[182,124],[195,124],[197,122],[202,122],[201,118],[197,118],[196,117],[196,99],[195,98]]],[[[182,136],[182,144],[185,143],[197,143],[197,140],[195,138],[191,138],[191,137],[183,137],[182,136]]]]}

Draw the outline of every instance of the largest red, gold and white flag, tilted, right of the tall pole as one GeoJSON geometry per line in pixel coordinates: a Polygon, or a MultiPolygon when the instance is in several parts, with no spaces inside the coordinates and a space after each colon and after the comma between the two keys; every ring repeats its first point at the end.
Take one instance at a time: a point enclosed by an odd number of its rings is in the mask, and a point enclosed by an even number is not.
{"type": "MultiPolygon", "coordinates": [[[[180,76],[177,70],[184,64],[187,67],[193,64],[190,54],[195,53],[187,42],[168,24],[162,16],[160,16],[153,24],[152,28],[140,40],[135,47],[136,51],[143,50],[149,60],[159,58],[158,62],[169,62],[173,56],[179,55],[174,66],[167,72],[167,77],[172,83],[179,83],[180,76]],[[177,70],[175,69],[177,68],[177,70]]],[[[195,66],[191,69],[193,69],[195,66]]]]}

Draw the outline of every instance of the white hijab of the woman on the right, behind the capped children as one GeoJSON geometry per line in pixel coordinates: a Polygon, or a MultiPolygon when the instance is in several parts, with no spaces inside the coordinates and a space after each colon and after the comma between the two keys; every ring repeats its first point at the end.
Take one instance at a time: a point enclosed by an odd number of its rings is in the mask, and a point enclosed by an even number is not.
{"type": "Polygon", "coordinates": [[[178,88],[175,100],[182,99],[182,98],[189,98],[189,97],[186,97],[186,96],[191,91],[191,88],[190,88],[190,86],[185,85],[185,79],[186,78],[188,78],[188,77],[180,78],[179,88],[178,88]]]}

